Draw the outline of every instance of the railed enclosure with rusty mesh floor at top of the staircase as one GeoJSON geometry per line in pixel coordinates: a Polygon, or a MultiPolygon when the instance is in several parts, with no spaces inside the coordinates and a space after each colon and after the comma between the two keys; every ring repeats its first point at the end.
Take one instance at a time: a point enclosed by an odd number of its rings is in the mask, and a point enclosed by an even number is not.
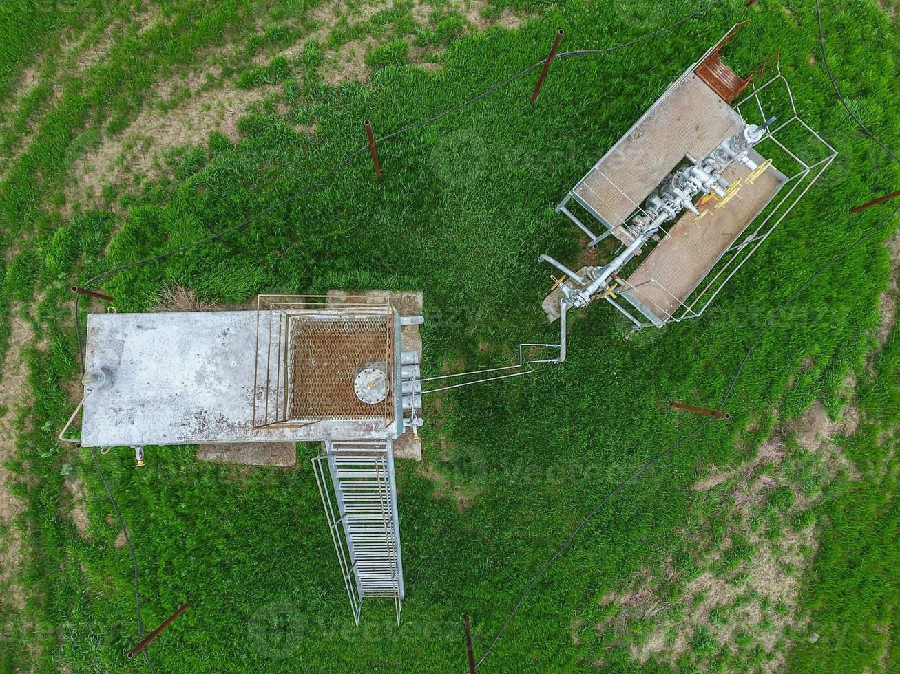
{"type": "Polygon", "coordinates": [[[255,428],[296,428],[317,421],[395,421],[400,320],[387,297],[257,297],[255,428]],[[365,367],[383,368],[387,395],[377,404],[356,396],[365,367]]]}

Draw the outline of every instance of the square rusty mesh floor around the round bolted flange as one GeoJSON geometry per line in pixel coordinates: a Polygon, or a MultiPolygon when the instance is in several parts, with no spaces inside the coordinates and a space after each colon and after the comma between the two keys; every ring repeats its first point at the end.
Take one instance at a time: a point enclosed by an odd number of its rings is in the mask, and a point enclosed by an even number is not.
{"type": "Polygon", "coordinates": [[[296,420],[384,418],[393,408],[392,386],[382,403],[356,397],[356,373],[371,365],[393,371],[390,316],[295,316],[291,319],[288,415],[296,420]]]}

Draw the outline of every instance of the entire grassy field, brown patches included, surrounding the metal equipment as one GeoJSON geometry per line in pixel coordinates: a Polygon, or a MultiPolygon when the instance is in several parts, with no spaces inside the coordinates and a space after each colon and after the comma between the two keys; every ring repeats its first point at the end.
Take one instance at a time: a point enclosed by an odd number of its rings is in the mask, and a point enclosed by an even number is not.
{"type": "MultiPolygon", "coordinates": [[[[87,450],[57,439],[80,397],[69,287],[284,200],[365,143],[363,120],[383,136],[463,102],[544,58],[560,27],[563,49],[600,49],[698,6],[0,6],[0,476],[20,504],[4,507],[0,539],[0,671],[145,669],[124,658],[138,631],[112,506],[87,450]]],[[[556,339],[537,256],[574,263],[581,244],[555,203],[743,19],[728,63],[749,72],[779,50],[798,111],[841,154],[700,319],[626,344],[617,316],[591,306],[563,367],[431,401],[425,465],[398,462],[400,627],[377,600],[353,623],[311,474],[318,445],[298,445],[289,470],[205,464],[183,447],[148,448],[141,468],[129,448],[98,456],[135,544],[145,630],[192,604],[149,649],[157,671],[463,671],[462,616],[480,657],[581,517],[703,421],[667,403],[716,406],[772,312],[887,216],[848,210],[896,190],[900,165],[830,89],[815,2],[727,0],[642,45],[556,62],[534,106],[536,73],[393,138],[380,145],[381,182],[360,155],[252,226],[104,279],[121,312],[153,310],[176,287],[220,304],[421,289],[428,372],[508,364],[520,341],[556,339]]],[[[896,4],[828,0],[823,21],[852,110],[900,148],[896,4]]],[[[780,315],[743,371],[733,419],[590,520],[482,671],[900,667],[900,351],[879,305],[895,230],[780,315]],[[810,449],[815,401],[835,427],[848,409],[858,426],[810,449]],[[759,461],[770,436],[784,447],[774,466],[759,461]],[[730,477],[698,490],[711,466],[730,477]],[[743,498],[753,485],[761,492],[743,498]],[[763,565],[761,550],[782,552],[763,565]],[[791,593],[758,582],[775,567],[791,593]]]]}

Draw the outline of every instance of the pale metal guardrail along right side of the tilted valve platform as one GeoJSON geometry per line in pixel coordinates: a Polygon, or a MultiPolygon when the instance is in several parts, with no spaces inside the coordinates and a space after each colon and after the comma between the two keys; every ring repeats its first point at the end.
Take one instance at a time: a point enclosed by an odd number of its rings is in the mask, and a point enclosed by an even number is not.
{"type": "MultiPolygon", "coordinates": [[[[768,157],[766,161],[770,164],[769,171],[779,176],[781,184],[761,211],[735,238],[734,243],[718,255],[713,265],[687,294],[681,293],[681,297],[678,297],[671,288],[667,288],[652,275],[641,278],[638,282],[622,278],[624,274],[617,277],[620,295],[627,302],[617,302],[614,295],[608,295],[604,299],[626,315],[635,324],[635,328],[651,325],[662,327],[664,324],[702,315],[725,284],[788,216],[838,155],[833,146],[800,118],[790,84],[782,75],[779,64],[776,65],[776,70],[776,75],[764,84],[751,85],[751,92],[734,104],[734,110],[748,124],[762,124],[770,119],[773,112],[781,112],[774,109],[777,107],[774,104],[777,97],[767,94],[775,93],[779,86],[783,87],[781,93],[787,108],[787,119],[782,116],[777,120],[777,126],[769,129],[761,142],[753,148],[761,157],[768,157]],[[803,149],[800,149],[801,146],[803,149]],[[772,161],[772,157],[776,155],[778,159],[772,161]],[[638,310],[637,315],[632,309],[638,310]]],[[[663,231],[663,236],[666,235],[668,232],[663,231]]]]}

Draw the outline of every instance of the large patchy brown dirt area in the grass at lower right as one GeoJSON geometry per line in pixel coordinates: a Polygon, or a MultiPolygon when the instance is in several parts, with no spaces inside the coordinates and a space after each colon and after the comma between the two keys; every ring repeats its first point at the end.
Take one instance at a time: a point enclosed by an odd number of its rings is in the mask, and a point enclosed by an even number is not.
{"type": "Polygon", "coordinates": [[[640,570],[625,591],[608,593],[600,602],[615,610],[607,608],[598,631],[611,630],[641,665],[653,661],[678,670],[687,659],[705,669],[720,649],[735,657],[759,649],[765,657],[757,669],[781,669],[790,634],[808,619],[799,613],[799,593],[817,548],[815,527],[803,526],[797,516],[819,498],[792,482],[788,438],[816,457],[824,482],[841,472],[855,479],[855,466],[833,440],[858,423],[855,408],[847,408],[841,421],[831,421],[816,402],[799,420],[777,427],[744,466],[713,466],[692,489],[718,492],[712,498],[723,505],[716,518],[729,523],[724,540],[716,542],[706,530],[686,534],[680,552],[693,557],[693,568],[687,567],[691,575],[682,580],[671,559],[659,571],[640,570]],[[777,497],[786,487],[791,493],[781,501],[777,497]],[[768,522],[763,528],[761,520],[768,522]],[[767,534],[770,526],[779,536],[767,534]],[[635,634],[635,625],[647,621],[652,623],[649,634],[635,634]]]}

